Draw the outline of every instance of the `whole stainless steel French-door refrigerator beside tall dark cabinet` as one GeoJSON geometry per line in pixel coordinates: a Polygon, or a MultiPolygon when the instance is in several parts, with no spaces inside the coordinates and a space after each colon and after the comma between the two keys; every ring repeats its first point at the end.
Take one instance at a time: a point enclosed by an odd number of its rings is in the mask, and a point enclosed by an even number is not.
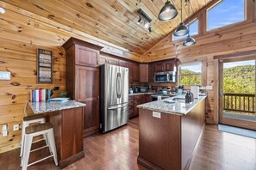
{"type": "Polygon", "coordinates": [[[128,123],[128,68],[103,64],[101,72],[100,130],[104,133],[128,123]]]}

